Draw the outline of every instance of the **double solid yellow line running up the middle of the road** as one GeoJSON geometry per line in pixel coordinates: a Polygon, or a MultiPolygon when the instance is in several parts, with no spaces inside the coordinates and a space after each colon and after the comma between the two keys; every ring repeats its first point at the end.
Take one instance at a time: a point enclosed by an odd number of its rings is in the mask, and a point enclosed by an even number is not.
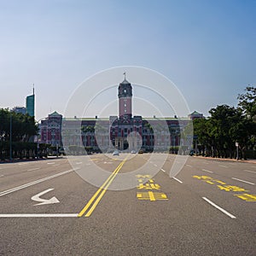
{"type": "Polygon", "coordinates": [[[124,166],[125,160],[123,160],[119,166],[112,172],[112,174],[108,177],[108,179],[102,184],[101,188],[96,191],[96,193],[90,198],[90,201],[83,208],[81,212],[79,212],[79,217],[85,216],[90,217],[90,214],[95,210],[97,204],[101,201],[102,196],[106,193],[109,185],[113,182],[114,177],[117,176],[122,166],[124,166]]]}

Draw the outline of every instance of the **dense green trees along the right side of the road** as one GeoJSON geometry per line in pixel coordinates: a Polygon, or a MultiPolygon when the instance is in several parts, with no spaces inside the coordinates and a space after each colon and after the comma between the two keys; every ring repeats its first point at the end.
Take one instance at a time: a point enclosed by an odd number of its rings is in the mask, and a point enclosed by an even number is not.
{"type": "Polygon", "coordinates": [[[194,119],[196,154],[220,158],[256,158],[256,88],[238,95],[238,106],[212,108],[207,119],[194,119]]]}

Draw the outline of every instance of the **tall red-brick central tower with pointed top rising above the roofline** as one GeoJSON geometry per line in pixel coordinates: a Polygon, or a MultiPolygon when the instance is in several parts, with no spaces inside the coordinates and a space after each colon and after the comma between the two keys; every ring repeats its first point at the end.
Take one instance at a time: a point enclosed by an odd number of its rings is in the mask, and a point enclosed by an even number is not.
{"type": "Polygon", "coordinates": [[[131,119],[131,97],[131,83],[125,79],[119,84],[119,119],[131,119]]]}

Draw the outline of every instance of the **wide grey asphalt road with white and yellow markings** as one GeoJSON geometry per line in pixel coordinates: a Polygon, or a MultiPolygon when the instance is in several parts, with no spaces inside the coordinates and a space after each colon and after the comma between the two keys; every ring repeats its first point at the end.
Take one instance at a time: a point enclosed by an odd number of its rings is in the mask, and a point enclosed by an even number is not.
{"type": "Polygon", "coordinates": [[[93,154],[1,164],[0,255],[256,255],[256,165],[189,157],[170,177],[177,161],[93,154]]]}

